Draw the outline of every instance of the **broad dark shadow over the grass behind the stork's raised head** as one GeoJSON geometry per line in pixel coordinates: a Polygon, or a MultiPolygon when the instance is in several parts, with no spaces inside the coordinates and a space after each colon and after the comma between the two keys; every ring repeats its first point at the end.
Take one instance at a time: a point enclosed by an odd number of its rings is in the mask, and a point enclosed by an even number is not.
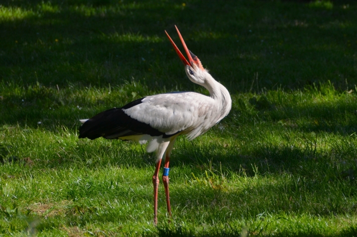
{"type": "Polygon", "coordinates": [[[234,0],[15,0],[3,7],[21,9],[0,22],[5,82],[103,86],[133,77],[145,78],[150,88],[193,90],[191,82],[177,79],[182,68],[164,35],[166,29],[177,41],[174,24],[232,92],[321,79],[342,86],[356,78],[353,3],[346,9],[336,3],[330,11],[300,1],[234,0]]]}

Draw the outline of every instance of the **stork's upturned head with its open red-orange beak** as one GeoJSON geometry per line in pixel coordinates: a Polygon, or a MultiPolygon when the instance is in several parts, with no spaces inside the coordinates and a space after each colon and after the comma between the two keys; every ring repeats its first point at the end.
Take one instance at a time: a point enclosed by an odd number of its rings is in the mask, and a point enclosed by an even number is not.
{"type": "Polygon", "coordinates": [[[186,58],[182,55],[182,53],[180,52],[180,50],[177,48],[176,44],[173,42],[173,40],[171,39],[171,37],[169,36],[169,34],[166,32],[165,33],[167,35],[167,37],[169,38],[172,46],[174,47],[177,55],[179,56],[179,58],[181,59],[181,61],[183,62],[183,64],[185,65],[185,71],[187,74],[187,77],[194,83],[200,84],[200,85],[204,85],[207,76],[209,75],[209,73],[203,68],[201,61],[197,58],[196,55],[194,55],[186,46],[185,41],[183,40],[180,31],[177,29],[177,26],[175,25],[177,33],[181,39],[181,43],[182,46],[185,49],[185,52],[187,54],[187,58],[188,61],[186,60],[186,58]]]}

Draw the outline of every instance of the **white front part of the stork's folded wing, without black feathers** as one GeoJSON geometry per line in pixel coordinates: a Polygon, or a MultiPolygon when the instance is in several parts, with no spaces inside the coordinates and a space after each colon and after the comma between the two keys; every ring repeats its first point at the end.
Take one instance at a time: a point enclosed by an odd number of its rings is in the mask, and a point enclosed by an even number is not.
{"type": "Polygon", "coordinates": [[[147,96],[142,103],[123,110],[131,118],[171,135],[199,127],[213,104],[214,99],[206,95],[176,92],[147,96]]]}

